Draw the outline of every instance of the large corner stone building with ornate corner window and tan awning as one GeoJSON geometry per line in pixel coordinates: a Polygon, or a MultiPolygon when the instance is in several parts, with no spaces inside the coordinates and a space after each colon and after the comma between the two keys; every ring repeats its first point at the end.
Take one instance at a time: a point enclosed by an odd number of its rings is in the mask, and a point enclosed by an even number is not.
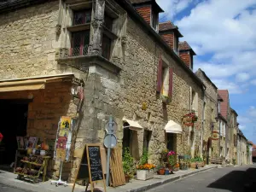
{"type": "MultiPolygon", "coordinates": [[[[63,177],[73,181],[85,143],[102,143],[109,115],[118,125],[118,146],[137,160],[143,148],[155,164],[161,148],[200,151],[205,85],[158,33],[162,9],[155,1],[0,5],[0,98],[6,108],[26,103],[17,112],[27,113],[19,135],[54,138],[61,116],[76,119],[73,159],[63,177]],[[75,96],[79,85],[84,94],[75,96]],[[184,126],[183,115],[192,111],[198,121],[184,126]]],[[[58,163],[50,165],[58,176],[58,163]]]]}

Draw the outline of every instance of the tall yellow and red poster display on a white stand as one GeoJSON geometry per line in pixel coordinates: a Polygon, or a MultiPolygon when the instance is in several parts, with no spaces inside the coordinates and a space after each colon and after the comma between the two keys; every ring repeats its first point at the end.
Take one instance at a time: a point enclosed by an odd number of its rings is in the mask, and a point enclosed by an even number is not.
{"type": "Polygon", "coordinates": [[[70,117],[61,117],[55,142],[55,160],[69,160],[72,142],[72,125],[73,123],[70,117]]]}

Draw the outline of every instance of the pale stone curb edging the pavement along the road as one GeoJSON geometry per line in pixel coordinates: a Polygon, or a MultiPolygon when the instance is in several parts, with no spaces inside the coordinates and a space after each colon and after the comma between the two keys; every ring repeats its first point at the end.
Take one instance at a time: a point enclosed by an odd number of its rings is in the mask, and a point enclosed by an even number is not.
{"type": "Polygon", "coordinates": [[[149,190],[149,189],[154,189],[156,187],[159,187],[160,185],[163,185],[163,184],[166,184],[166,183],[172,183],[172,182],[177,181],[179,179],[182,179],[184,177],[189,177],[191,175],[195,175],[195,174],[200,173],[200,172],[206,172],[206,171],[212,170],[214,168],[218,168],[218,166],[212,166],[212,167],[209,167],[207,169],[198,170],[198,171],[195,171],[195,172],[189,172],[189,173],[186,173],[184,175],[177,176],[177,177],[166,178],[166,179],[164,179],[162,181],[149,184],[148,186],[139,187],[137,189],[123,190],[121,192],[141,192],[141,191],[146,191],[146,190],[149,190]]]}

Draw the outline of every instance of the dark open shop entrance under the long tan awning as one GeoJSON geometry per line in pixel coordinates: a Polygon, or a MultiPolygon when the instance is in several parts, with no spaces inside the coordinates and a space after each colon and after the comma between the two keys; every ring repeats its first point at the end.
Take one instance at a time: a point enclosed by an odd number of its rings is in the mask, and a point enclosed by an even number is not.
{"type": "Polygon", "coordinates": [[[15,162],[17,149],[16,137],[26,136],[27,100],[0,100],[0,132],[3,141],[0,144],[0,169],[9,170],[15,162]]]}

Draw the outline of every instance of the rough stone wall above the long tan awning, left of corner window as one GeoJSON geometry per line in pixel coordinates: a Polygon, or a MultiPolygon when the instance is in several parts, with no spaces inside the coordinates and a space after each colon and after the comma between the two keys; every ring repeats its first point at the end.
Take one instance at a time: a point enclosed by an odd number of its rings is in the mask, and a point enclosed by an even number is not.
{"type": "Polygon", "coordinates": [[[1,79],[16,79],[72,71],[55,61],[58,1],[0,15],[1,79]]]}

